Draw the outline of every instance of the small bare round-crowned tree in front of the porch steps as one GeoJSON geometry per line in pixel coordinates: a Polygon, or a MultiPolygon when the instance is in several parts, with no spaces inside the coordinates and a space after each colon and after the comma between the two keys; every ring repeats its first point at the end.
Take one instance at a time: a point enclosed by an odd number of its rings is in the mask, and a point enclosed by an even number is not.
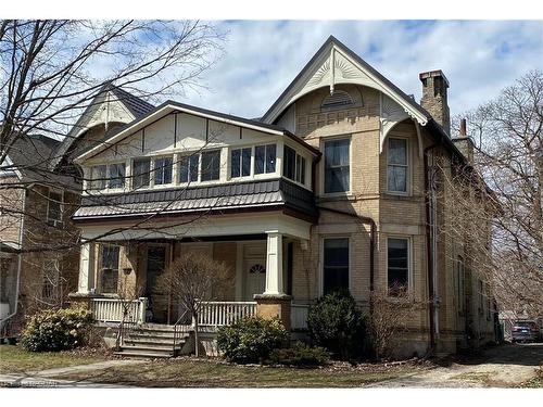
{"type": "Polygon", "coordinates": [[[172,293],[172,301],[182,305],[192,316],[197,357],[200,344],[198,321],[202,306],[206,302],[227,297],[232,284],[224,263],[195,252],[182,254],[159,278],[157,290],[172,293]]]}

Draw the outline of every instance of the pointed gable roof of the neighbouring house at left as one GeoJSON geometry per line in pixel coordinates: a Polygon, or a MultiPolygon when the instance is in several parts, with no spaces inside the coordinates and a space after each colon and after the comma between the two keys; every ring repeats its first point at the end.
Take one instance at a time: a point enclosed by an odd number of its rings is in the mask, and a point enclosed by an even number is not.
{"type": "MultiPolygon", "coordinates": [[[[130,122],[134,119],[138,119],[144,115],[147,115],[149,112],[151,112],[154,109],[154,105],[151,103],[144,101],[141,98],[138,98],[129,92],[127,92],[124,89],[121,89],[117,86],[114,86],[113,84],[105,84],[100,88],[100,90],[97,92],[94,98],[92,98],[91,102],[89,105],[85,109],[83,114],[79,116],[77,119],[76,124],[72,127],[70,132],[66,135],[64,140],[62,141],[62,144],[59,145],[59,150],[56,151],[56,157],[52,162],[52,168],[56,167],[59,163],[62,161],[64,155],[70,151],[72,145],[75,143],[75,141],[79,138],[85,132],[86,129],[86,124],[88,123],[89,119],[89,114],[98,109],[98,106],[104,102],[99,102],[99,99],[106,94],[108,92],[111,92],[115,96],[114,101],[121,102],[126,110],[130,113],[132,116],[130,122]]],[[[108,101],[112,102],[112,101],[108,101]]],[[[108,103],[105,102],[105,103],[108,103]]]]}

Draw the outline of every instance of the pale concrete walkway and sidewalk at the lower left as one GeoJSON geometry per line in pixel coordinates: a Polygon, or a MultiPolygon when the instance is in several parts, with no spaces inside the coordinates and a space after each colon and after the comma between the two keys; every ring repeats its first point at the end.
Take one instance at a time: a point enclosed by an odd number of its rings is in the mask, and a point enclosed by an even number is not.
{"type": "Polygon", "coordinates": [[[81,371],[98,371],[116,366],[142,364],[143,359],[116,359],[105,360],[97,364],[68,366],[64,368],[29,371],[24,373],[0,374],[0,385],[9,387],[97,387],[118,389],[126,387],[116,384],[98,384],[88,381],[50,379],[55,376],[75,373],[81,371]]]}

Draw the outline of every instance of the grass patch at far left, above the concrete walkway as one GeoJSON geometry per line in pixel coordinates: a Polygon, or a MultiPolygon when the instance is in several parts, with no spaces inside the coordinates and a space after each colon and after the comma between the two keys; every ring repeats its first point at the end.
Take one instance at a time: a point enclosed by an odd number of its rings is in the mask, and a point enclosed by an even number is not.
{"type": "Polygon", "coordinates": [[[65,366],[88,365],[104,360],[103,355],[89,355],[88,352],[42,352],[34,353],[21,346],[0,345],[0,373],[17,373],[60,368],[65,366]]]}

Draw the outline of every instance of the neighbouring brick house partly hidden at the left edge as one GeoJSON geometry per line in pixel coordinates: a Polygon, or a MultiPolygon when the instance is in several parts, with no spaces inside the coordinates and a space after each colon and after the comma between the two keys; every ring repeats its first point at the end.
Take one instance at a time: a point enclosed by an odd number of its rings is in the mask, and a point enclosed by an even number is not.
{"type": "Polygon", "coordinates": [[[103,86],[64,140],[22,135],[0,170],[0,332],[16,334],[24,317],[68,304],[77,290],[81,178],[73,157],[106,131],[153,106],[103,86]]]}

